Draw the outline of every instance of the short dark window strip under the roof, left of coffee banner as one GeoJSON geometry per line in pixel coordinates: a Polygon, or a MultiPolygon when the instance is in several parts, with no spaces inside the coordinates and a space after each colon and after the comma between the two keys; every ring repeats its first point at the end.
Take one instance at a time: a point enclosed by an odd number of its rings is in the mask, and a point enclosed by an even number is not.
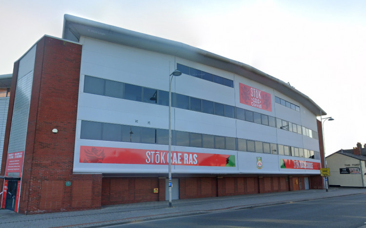
{"type": "Polygon", "coordinates": [[[179,63],[177,63],[177,70],[179,70],[180,72],[182,72],[182,74],[185,74],[185,75],[202,78],[207,81],[212,81],[212,82],[224,85],[224,86],[234,88],[233,80],[230,80],[230,79],[227,79],[227,78],[224,78],[221,76],[213,75],[213,74],[201,71],[201,70],[194,69],[192,67],[184,66],[179,63]]]}

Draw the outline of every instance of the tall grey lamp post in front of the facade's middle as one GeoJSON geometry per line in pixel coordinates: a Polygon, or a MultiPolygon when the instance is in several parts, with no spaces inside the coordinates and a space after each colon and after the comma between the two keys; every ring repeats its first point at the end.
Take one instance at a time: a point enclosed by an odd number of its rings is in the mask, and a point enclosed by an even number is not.
{"type": "Polygon", "coordinates": [[[168,151],[168,178],[169,178],[169,208],[172,207],[172,130],[171,130],[171,108],[172,108],[172,80],[173,76],[181,76],[182,72],[175,70],[169,75],[169,151],[168,151]],[[171,76],[171,77],[170,77],[171,76]]]}

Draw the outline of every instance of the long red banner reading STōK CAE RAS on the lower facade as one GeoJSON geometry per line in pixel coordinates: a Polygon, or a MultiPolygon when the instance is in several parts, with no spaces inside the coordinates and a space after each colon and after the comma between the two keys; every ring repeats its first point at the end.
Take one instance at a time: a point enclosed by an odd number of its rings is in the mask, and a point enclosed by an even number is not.
{"type": "MultiPolygon", "coordinates": [[[[172,165],[235,167],[235,155],[171,152],[172,165]]],[[[168,151],[80,147],[80,163],[168,165],[168,151]]]]}

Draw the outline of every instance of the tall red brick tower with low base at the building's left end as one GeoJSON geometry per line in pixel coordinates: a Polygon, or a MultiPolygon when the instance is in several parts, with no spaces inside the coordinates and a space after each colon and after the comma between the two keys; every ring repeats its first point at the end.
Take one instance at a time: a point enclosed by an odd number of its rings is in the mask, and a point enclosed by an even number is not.
{"type": "MultiPolygon", "coordinates": [[[[13,75],[18,72],[16,64],[13,75]]],[[[37,43],[20,213],[101,206],[102,175],[72,173],[80,64],[79,44],[49,37],[44,37],[37,43]],[[54,128],[58,129],[58,133],[52,133],[54,128]],[[65,186],[66,181],[70,181],[71,186],[65,186]]],[[[13,82],[15,78],[13,76],[13,82]]],[[[10,107],[14,105],[15,85],[16,83],[12,84],[9,114],[12,114],[10,107]]],[[[11,121],[7,122],[9,124],[11,121]]],[[[5,133],[6,150],[9,133],[10,126],[5,133]]]]}

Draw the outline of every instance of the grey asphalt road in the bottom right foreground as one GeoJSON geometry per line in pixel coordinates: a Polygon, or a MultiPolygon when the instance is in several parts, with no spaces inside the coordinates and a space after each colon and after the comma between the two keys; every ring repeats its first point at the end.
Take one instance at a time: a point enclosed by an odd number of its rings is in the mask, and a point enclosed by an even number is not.
{"type": "Polygon", "coordinates": [[[366,197],[361,194],[153,220],[113,226],[113,228],[358,228],[366,225],[365,206],[366,197]]]}

